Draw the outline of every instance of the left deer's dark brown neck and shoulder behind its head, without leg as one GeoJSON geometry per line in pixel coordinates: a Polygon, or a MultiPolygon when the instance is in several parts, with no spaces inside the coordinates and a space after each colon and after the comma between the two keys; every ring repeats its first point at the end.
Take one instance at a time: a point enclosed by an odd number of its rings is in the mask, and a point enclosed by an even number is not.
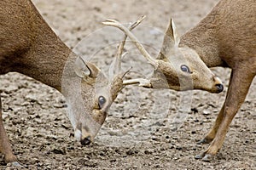
{"type": "Polygon", "coordinates": [[[0,8],[0,73],[17,71],[61,90],[61,74],[71,50],[30,1],[1,1],[0,8]]]}

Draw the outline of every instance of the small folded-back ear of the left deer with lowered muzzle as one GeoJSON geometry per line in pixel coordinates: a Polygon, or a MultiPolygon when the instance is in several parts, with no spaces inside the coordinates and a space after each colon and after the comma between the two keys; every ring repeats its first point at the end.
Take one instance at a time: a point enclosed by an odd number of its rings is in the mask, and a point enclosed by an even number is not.
{"type": "Polygon", "coordinates": [[[74,71],[81,78],[97,77],[98,73],[100,72],[100,70],[96,67],[96,65],[93,65],[92,63],[84,61],[82,57],[78,57],[76,59],[75,65],[74,65],[74,71]]]}

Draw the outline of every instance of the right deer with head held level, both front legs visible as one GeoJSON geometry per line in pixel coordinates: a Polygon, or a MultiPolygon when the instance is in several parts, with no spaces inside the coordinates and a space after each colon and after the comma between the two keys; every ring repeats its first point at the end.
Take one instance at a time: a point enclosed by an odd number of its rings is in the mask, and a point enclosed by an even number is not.
{"type": "Polygon", "coordinates": [[[148,63],[154,66],[152,77],[125,80],[127,84],[138,84],[145,88],[170,88],[181,91],[201,89],[220,93],[223,91],[223,84],[212,78],[206,66],[231,69],[224,105],[213,127],[198,142],[210,145],[207,150],[196,155],[195,159],[211,161],[217,155],[224,144],[230,123],[246,99],[256,75],[255,8],[256,3],[253,0],[220,0],[205,18],[182,37],[178,37],[176,26],[171,19],[156,59],[151,57],[143,48],[143,44],[118,21],[104,22],[105,25],[124,31],[148,63]],[[165,78],[167,85],[163,85],[165,78]],[[209,88],[209,84],[212,84],[209,79],[215,80],[216,88],[209,88]],[[191,81],[193,84],[189,88],[184,85],[184,82],[191,81]]]}

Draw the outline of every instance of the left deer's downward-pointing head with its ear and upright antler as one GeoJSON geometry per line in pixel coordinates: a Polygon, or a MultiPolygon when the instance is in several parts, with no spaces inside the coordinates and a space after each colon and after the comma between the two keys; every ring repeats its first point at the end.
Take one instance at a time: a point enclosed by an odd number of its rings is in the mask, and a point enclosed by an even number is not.
{"type": "MultiPolygon", "coordinates": [[[[136,27],[144,17],[130,26],[136,27]]],[[[125,39],[120,42],[116,58],[113,62],[111,77],[107,78],[96,65],[82,57],[71,54],[62,77],[61,93],[67,99],[67,113],[72,122],[75,138],[81,144],[90,144],[96,137],[100,127],[108,115],[108,108],[124,88],[121,72],[121,56],[125,39]]]]}

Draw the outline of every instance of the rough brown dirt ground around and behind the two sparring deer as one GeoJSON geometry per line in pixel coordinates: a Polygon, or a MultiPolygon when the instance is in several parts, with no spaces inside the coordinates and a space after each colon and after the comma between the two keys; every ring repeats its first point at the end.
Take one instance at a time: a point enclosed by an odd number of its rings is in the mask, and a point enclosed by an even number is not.
{"type": "MultiPolygon", "coordinates": [[[[33,0],[33,3],[63,42],[77,53],[92,54],[100,49],[102,42],[108,42],[108,48],[101,48],[91,59],[108,73],[116,45],[110,42],[122,34],[114,28],[103,28],[103,20],[111,18],[127,23],[146,14],[143,25],[134,32],[148,44],[152,54],[157,54],[171,16],[178,32],[183,34],[217,0],[33,0]]],[[[128,49],[136,51],[129,43],[128,49]]],[[[123,69],[133,66],[127,78],[148,76],[153,69],[143,63],[143,57],[136,52],[126,56],[123,69]]],[[[30,77],[9,73],[0,77],[4,125],[24,169],[254,169],[255,80],[230,125],[222,150],[211,162],[194,158],[207,149],[207,144],[196,141],[212,127],[229,82],[229,69],[212,71],[224,82],[224,93],[124,88],[108,111],[95,143],[86,147],[73,138],[73,127],[60,93],[30,77]],[[180,113],[183,120],[173,130],[172,122],[180,113]]],[[[0,167],[15,169],[4,165],[3,160],[0,167]]]]}

